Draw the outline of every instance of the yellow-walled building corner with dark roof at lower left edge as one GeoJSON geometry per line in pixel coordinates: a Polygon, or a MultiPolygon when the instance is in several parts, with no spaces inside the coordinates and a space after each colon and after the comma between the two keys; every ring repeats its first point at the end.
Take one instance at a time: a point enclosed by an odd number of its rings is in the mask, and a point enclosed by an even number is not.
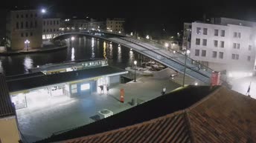
{"type": "Polygon", "coordinates": [[[19,143],[18,122],[4,75],[0,73],[0,142],[19,143]]]}

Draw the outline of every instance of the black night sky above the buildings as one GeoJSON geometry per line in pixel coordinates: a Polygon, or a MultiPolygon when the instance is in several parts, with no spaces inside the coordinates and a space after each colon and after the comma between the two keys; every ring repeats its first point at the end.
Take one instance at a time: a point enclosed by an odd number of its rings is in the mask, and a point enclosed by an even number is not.
{"type": "MultiPolygon", "coordinates": [[[[134,1],[134,0],[9,0],[1,1],[1,18],[10,7],[27,5],[48,7],[49,15],[55,13],[61,18],[125,18],[127,30],[144,33],[161,33],[167,36],[182,30],[183,22],[200,21],[203,15],[234,19],[256,20],[256,1],[134,1]]],[[[0,21],[1,25],[4,21],[0,21]]],[[[0,26],[1,26],[0,25],[0,26]]],[[[1,27],[2,29],[2,27],[1,27]]]]}

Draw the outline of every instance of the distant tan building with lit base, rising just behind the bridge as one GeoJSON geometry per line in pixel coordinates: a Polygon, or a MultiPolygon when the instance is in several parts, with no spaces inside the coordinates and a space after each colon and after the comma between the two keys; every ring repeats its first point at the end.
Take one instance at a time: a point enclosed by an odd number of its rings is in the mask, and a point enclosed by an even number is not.
{"type": "Polygon", "coordinates": [[[106,19],[106,30],[123,33],[124,22],[124,19],[106,19]]]}

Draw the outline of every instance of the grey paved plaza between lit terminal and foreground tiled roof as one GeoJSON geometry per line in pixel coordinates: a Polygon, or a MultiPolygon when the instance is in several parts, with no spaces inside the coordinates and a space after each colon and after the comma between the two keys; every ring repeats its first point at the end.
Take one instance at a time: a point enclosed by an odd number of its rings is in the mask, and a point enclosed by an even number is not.
{"type": "Polygon", "coordinates": [[[95,122],[99,110],[108,109],[114,114],[134,107],[132,99],[147,102],[161,96],[161,90],[166,87],[167,92],[180,87],[170,78],[144,76],[138,82],[128,82],[110,87],[109,95],[94,93],[80,96],[62,102],[49,102],[46,107],[24,108],[16,110],[19,130],[26,143],[45,139],[65,130],[80,127],[95,122]],[[120,102],[120,89],[124,89],[124,103],[120,102]]]}

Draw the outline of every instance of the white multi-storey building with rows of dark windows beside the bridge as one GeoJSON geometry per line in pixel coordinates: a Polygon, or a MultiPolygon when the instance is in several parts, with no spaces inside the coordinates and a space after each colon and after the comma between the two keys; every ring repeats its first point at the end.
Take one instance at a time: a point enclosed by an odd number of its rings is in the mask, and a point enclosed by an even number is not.
{"type": "Polygon", "coordinates": [[[212,24],[193,22],[191,59],[228,76],[250,76],[255,67],[256,23],[214,19],[212,24]]]}

